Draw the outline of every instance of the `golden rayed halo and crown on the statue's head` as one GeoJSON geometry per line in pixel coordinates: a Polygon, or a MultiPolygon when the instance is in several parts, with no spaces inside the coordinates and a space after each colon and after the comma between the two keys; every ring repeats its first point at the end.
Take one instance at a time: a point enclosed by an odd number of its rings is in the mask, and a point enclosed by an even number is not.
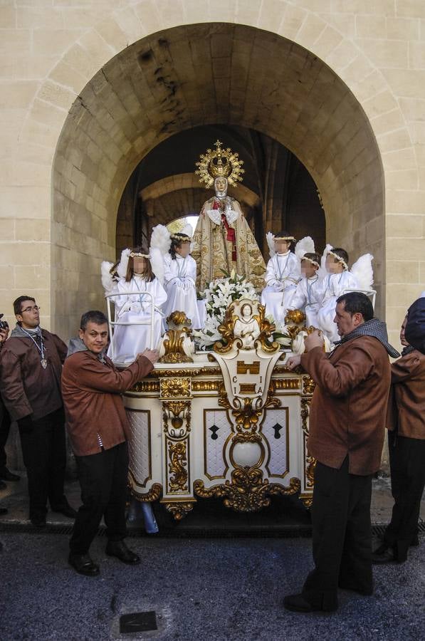
{"type": "Polygon", "coordinates": [[[215,149],[207,149],[206,154],[199,156],[195,174],[199,176],[199,182],[204,182],[207,189],[213,186],[214,179],[221,177],[227,178],[229,184],[234,187],[243,180],[242,174],[245,173],[242,169],[243,160],[240,160],[238,153],[232,152],[230,147],[223,149],[219,140],[216,140],[214,146],[215,149]]]}

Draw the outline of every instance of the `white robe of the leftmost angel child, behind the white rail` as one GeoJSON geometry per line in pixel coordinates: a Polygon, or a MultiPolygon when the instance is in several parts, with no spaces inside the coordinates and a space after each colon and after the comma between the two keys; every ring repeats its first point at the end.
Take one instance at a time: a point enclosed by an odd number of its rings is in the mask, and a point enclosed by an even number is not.
{"type": "MultiPolygon", "coordinates": [[[[115,321],[121,323],[137,323],[146,321],[146,325],[115,325],[112,336],[114,360],[117,363],[131,363],[140,352],[150,347],[150,298],[143,292],[149,292],[154,297],[154,337],[153,348],[156,349],[162,335],[162,318],[160,308],[167,300],[167,293],[157,278],[146,281],[141,276],[133,276],[131,281],[120,278],[110,293],[119,293],[111,300],[115,303],[115,321]],[[130,293],[131,292],[131,293],[130,293]]],[[[112,346],[107,350],[112,358],[112,346]]]]}

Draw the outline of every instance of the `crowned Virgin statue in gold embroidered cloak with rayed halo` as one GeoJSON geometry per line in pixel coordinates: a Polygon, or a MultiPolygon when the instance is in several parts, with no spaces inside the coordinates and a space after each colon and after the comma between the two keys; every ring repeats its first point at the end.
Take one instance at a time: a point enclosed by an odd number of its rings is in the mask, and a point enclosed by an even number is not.
{"type": "Polygon", "coordinates": [[[241,206],[227,195],[228,184],[236,185],[242,179],[243,161],[230,149],[223,150],[219,140],[215,147],[196,163],[200,181],[206,187],[214,185],[216,192],[204,202],[194,233],[191,255],[196,261],[196,289],[203,291],[215,278],[234,270],[260,290],[266,264],[241,206]]]}

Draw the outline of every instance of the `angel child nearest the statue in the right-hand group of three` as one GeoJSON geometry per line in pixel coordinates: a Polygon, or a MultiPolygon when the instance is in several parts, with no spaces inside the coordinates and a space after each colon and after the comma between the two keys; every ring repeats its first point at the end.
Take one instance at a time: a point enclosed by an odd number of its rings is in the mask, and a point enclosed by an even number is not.
{"type": "Polygon", "coordinates": [[[290,251],[295,238],[287,231],[280,231],[276,236],[268,232],[267,242],[271,258],[267,264],[266,287],[261,293],[261,304],[266,307],[266,314],[271,314],[280,323],[285,319],[300,280],[300,261],[290,251]]]}

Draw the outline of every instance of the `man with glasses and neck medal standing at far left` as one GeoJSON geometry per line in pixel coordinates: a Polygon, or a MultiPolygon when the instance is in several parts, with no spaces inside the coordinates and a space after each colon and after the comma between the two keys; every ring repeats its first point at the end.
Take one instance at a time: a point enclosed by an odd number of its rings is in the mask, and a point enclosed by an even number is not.
{"type": "Polygon", "coordinates": [[[14,301],[16,328],[0,354],[1,395],[19,425],[23,462],[28,476],[29,518],[46,526],[51,509],[75,518],[63,494],[65,417],[61,396],[65,343],[41,329],[40,308],[31,296],[14,301]]]}

